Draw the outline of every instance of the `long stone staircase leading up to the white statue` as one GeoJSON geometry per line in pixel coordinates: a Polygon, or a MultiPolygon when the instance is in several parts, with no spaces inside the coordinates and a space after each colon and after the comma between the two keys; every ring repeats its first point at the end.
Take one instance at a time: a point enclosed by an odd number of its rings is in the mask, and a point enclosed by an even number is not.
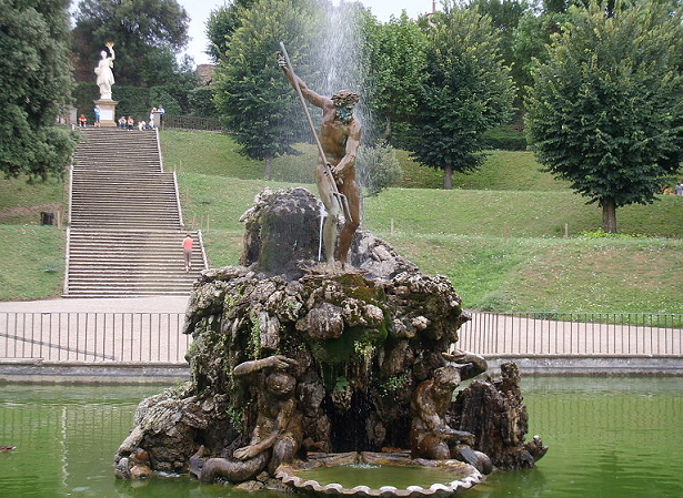
{"type": "Polygon", "coordinates": [[[80,129],[70,186],[64,297],[189,295],[207,267],[184,230],[173,173],[163,172],[155,130],[80,129]]]}

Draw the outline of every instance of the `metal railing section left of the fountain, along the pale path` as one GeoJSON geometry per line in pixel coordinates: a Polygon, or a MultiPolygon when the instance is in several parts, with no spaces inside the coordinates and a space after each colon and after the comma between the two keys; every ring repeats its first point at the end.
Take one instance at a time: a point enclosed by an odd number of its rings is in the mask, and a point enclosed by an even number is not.
{"type": "Polygon", "coordinates": [[[182,313],[0,313],[0,358],[184,363],[182,313]]]}

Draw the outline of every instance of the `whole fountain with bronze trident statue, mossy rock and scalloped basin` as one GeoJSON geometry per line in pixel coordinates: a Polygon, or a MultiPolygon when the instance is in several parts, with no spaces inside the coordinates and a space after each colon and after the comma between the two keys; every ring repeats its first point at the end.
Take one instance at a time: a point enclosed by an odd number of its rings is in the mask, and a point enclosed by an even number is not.
{"type": "MultiPolygon", "coordinates": [[[[462,380],[486,370],[484,358],[453,348],[470,319],[460,297],[445,277],[356,230],[359,95],[315,93],[281,50],[303,109],[308,100],[323,112],[319,138],[305,111],[327,218],[304,189],[257,196],[242,216],[240,266],[204,271],[194,284],[183,331],[193,338],[191,380],[140,404],[117,477],[190,472],[252,490],[445,498],[494,467],[532,467],[546,448],[524,441],[516,366],[453,400],[462,380]]],[[[343,53],[346,69],[358,64],[343,53]]]]}

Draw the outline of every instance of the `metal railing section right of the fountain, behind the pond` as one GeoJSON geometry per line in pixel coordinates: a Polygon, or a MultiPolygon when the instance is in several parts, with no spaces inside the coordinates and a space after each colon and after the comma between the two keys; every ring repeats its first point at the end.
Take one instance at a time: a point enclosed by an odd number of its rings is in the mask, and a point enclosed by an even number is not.
{"type": "Polygon", "coordinates": [[[459,348],[480,355],[682,356],[683,315],[473,313],[459,348]]]}

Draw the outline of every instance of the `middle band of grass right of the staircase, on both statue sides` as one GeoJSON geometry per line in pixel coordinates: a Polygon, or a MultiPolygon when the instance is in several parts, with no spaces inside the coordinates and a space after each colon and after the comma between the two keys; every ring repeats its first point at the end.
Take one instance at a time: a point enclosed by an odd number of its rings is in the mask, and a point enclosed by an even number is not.
{"type": "MultiPolygon", "coordinates": [[[[190,227],[241,231],[239,218],[264,187],[297,183],[237,180],[180,173],[183,216],[190,227]]],[[[315,192],[314,185],[304,185],[315,192]]],[[[601,211],[571,191],[472,191],[389,189],[364,202],[363,223],[373,232],[491,235],[499,237],[558,237],[569,225],[570,236],[593,232],[601,211]]],[[[683,197],[665,195],[651,205],[616,212],[620,231],[655,237],[683,238],[683,197]]]]}

